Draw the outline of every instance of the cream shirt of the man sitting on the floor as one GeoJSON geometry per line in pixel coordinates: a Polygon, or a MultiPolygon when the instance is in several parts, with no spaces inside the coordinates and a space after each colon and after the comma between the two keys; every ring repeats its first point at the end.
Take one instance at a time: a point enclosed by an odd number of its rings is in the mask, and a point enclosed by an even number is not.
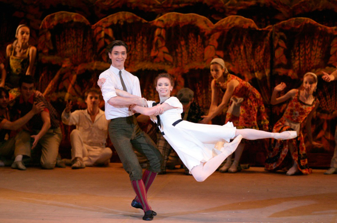
{"type": "Polygon", "coordinates": [[[76,129],[81,133],[85,144],[105,147],[108,138],[109,120],[105,118],[104,111],[99,110],[94,122],[92,122],[87,109],[76,110],[71,113],[63,111],[62,122],[66,125],[76,125],[76,129]]]}

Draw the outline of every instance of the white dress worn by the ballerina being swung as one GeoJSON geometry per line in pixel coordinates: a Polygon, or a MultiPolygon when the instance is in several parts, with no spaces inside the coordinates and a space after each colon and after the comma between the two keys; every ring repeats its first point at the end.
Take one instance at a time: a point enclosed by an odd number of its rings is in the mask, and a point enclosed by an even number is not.
{"type": "MultiPolygon", "coordinates": [[[[154,103],[154,101],[147,101],[149,108],[153,107],[154,103]]],[[[159,115],[160,126],[158,127],[190,171],[193,167],[221,153],[214,148],[217,142],[229,142],[235,137],[236,128],[232,122],[221,126],[184,121],[181,119],[183,105],[176,97],[170,97],[164,103],[174,109],[164,111],[159,115]]],[[[156,116],[151,115],[150,118],[157,123],[156,116]]]]}

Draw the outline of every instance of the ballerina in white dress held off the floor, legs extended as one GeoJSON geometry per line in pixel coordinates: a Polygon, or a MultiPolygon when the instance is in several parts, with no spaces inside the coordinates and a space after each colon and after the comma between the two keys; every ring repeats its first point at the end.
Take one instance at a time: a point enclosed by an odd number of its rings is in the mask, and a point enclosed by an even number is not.
{"type": "MultiPolygon", "coordinates": [[[[222,162],[234,152],[242,138],[255,140],[263,138],[291,139],[297,136],[296,131],[282,133],[265,132],[256,129],[236,129],[231,122],[220,125],[198,124],[181,119],[183,106],[176,97],[170,97],[174,86],[170,74],[159,74],[155,79],[160,104],[148,101],[148,107],[132,106],[136,112],[152,115],[164,138],[177,152],[189,168],[194,178],[201,182],[212,174],[222,162]],[[153,114],[163,112],[155,118],[153,114]],[[230,139],[234,140],[227,143],[230,139]]],[[[123,97],[136,97],[124,91],[116,91],[123,97]]]]}

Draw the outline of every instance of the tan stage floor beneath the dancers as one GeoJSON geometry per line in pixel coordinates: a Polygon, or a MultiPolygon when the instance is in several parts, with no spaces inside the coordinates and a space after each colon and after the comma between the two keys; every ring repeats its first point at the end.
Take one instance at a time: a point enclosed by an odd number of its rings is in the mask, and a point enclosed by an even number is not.
{"type": "MultiPolygon", "coordinates": [[[[158,175],[148,192],[157,223],[337,223],[337,174],[286,176],[251,167],[204,182],[182,169],[158,175]]],[[[121,164],[73,170],[0,167],[1,223],[140,223],[121,164]]]]}

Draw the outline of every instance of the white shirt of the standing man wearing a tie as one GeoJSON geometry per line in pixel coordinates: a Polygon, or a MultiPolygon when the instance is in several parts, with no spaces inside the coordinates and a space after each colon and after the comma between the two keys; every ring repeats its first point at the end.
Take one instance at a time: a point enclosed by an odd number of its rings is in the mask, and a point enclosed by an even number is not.
{"type": "MultiPolygon", "coordinates": [[[[103,99],[105,101],[105,116],[107,119],[113,119],[117,117],[128,117],[134,114],[129,111],[128,106],[112,106],[108,101],[116,97],[116,89],[123,90],[121,79],[119,77],[119,69],[110,65],[110,68],[105,70],[99,75],[99,78],[106,78],[101,90],[103,99]]],[[[130,72],[122,69],[122,78],[130,94],[141,97],[140,85],[138,77],[134,76],[130,72]]]]}

